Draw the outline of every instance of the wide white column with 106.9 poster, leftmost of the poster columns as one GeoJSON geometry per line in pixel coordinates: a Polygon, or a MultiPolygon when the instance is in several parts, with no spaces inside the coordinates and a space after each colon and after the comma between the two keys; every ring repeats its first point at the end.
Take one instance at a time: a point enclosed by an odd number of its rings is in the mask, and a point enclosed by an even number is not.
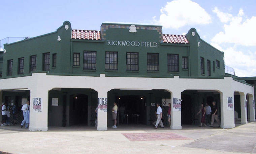
{"type": "Polygon", "coordinates": [[[29,131],[48,131],[48,90],[43,88],[43,85],[29,90],[29,131]]]}

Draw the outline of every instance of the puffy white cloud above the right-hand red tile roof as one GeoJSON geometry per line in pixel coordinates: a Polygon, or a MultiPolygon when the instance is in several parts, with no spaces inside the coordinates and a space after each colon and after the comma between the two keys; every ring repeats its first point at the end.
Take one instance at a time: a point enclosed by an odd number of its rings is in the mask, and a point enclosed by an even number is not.
{"type": "Polygon", "coordinates": [[[159,20],[153,17],[155,23],[164,28],[178,29],[185,25],[209,24],[211,16],[196,2],[191,0],[174,0],[167,2],[161,8],[159,20]]]}

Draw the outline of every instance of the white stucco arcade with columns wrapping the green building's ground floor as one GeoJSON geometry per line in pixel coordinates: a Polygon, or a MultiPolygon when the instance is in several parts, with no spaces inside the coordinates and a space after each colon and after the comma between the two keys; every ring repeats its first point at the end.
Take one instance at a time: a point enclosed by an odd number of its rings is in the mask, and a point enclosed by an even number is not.
{"type": "MultiPolygon", "coordinates": [[[[253,109],[254,87],[237,82],[232,77],[224,79],[192,79],[192,78],[139,78],[139,77],[99,77],[89,76],[56,76],[46,73],[33,73],[32,76],[0,80],[0,90],[24,89],[30,90],[30,106],[33,98],[42,98],[42,112],[30,112],[30,131],[48,130],[48,92],[53,88],[91,88],[98,92],[98,98],[107,98],[111,89],[164,89],[171,93],[172,98],[180,98],[184,90],[215,90],[221,97],[221,128],[233,128],[234,109],[227,109],[227,97],[234,97],[234,92],[241,96],[241,123],[247,123],[245,103],[249,96],[250,121],[255,121],[253,109]]],[[[0,98],[2,94],[0,93],[0,98]]],[[[108,102],[112,103],[112,102],[108,102]]],[[[171,129],[181,129],[181,111],[171,110],[171,129]]],[[[97,130],[107,130],[107,112],[98,112],[97,130]]]]}

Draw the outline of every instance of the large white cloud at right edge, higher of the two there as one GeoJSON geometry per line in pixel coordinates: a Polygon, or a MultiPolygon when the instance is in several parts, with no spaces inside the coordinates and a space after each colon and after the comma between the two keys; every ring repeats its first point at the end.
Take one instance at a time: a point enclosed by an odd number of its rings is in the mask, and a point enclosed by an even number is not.
{"type": "Polygon", "coordinates": [[[214,43],[235,43],[243,46],[256,46],[256,16],[247,18],[244,16],[243,9],[239,10],[237,16],[230,16],[228,13],[219,11],[218,8],[213,10],[220,18],[221,22],[225,22],[223,30],[217,33],[212,41],[214,43]]]}

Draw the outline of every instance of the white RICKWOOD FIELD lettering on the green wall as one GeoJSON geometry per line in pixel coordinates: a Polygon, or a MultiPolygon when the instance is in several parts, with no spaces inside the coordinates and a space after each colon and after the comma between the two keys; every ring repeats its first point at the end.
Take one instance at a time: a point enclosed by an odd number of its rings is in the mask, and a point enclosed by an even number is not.
{"type": "Polygon", "coordinates": [[[138,42],[138,41],[107,41],[108,46],[132,46],[132,47],[157,47],[156,42],[138,42]]]}

